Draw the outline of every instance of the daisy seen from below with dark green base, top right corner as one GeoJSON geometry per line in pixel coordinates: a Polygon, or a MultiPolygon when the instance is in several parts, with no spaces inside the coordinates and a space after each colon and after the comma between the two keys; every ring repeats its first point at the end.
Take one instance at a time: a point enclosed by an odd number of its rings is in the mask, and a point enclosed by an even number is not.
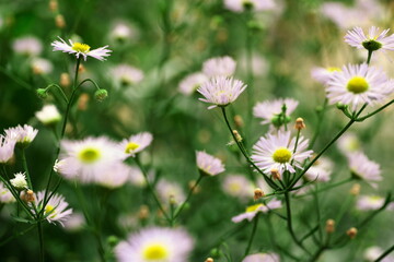
{"type": "Polygon", "coordinates": [[[394,50],[394,35],[386,36],[390,29],[385,29],[379,34],[379,27],[370,27],[368,35],[363,33],[361,27],[355,27],[345,35],[345,41],[358,49],[366,48],[369,51],[394,50]]]}

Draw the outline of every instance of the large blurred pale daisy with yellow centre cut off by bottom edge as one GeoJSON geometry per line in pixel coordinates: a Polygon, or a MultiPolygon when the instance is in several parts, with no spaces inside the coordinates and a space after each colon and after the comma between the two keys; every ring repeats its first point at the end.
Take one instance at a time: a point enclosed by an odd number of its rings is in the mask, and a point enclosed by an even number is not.
{"type": "Polygon", "coordinates": [[[185,262],[194,241],[181,228],[150,227],[131,234],[115,247],[119,262],[185,262]]]}

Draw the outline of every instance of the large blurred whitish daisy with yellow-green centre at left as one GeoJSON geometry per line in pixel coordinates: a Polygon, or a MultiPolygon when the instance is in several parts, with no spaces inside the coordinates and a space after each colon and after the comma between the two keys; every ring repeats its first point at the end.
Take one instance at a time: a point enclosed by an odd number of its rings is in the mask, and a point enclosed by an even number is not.
{"type": "Polygon", "coordinates": [[[123,160],[116,143],[105,136],[81,141],[61,141],[61,156],[56,169],[67,179],[95,182],[123,160]]]}

